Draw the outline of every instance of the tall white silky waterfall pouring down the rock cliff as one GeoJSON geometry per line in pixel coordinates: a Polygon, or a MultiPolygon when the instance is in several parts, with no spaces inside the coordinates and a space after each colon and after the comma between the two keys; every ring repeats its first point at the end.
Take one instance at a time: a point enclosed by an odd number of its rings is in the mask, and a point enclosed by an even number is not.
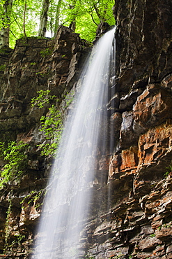
{"type": "Polygon", "coordinates": [[[81,75],[79,94],[66,120],[49,180],[36,259],[84,258],[81,231],[90,213],[97,158],[107,146],[105,113],[114,32],[115,28],[97,41],[81,75]]]}

